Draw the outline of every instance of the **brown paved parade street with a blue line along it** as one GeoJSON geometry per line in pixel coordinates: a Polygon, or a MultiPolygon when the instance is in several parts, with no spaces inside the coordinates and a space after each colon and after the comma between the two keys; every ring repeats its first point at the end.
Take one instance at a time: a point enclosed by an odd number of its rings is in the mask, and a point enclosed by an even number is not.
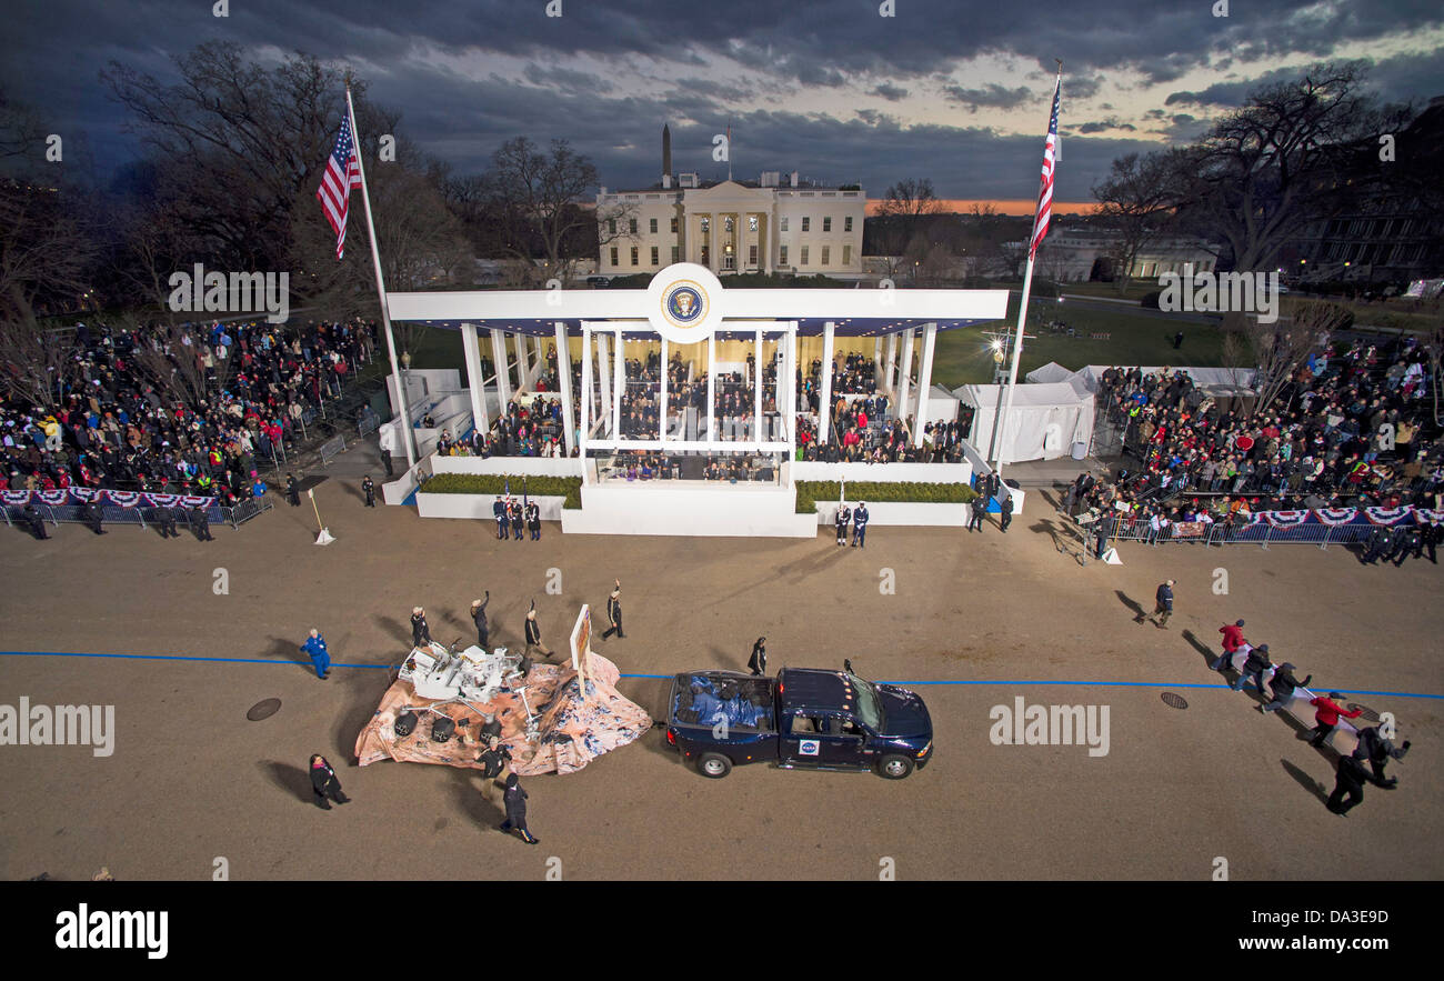
{"type": "Polygon", "coordinates": [[[861,552],[833,546],[830,529],[793,542],[563,537],[549,523],[540,543],[497,542],[490,523],[364,510],[336,481],[316,498],[338,539],[326,548],[312,543],[310,509],[283,504],[214,543],[4,529],[0,649],[147,657],[0,657],[0,704],[114,705],[116,725],[110,756],[0,747],[0,876],[209,878],[217,857],[234,878],[540,878],[553,857],[567,878],[872,878],[891,858],[898,878],[1201,880],[1216,857],[1238,880],[1444,876],[1441,571],[1427,562],[1125,545],[1123,566],[1080,568],[1056,549],[1043,496],[1006,536],[992,523],[878,527],[861,552]],[[1220,571],[1227,595],[1214,592],[1220,571]],[[851,657],[865,678],[967,682],[918,688],[934,761],[902,782],[767,767],[706,780],[654,730],[582,773],[527,780],[536,848],[495,831],[474,773],[355,767],[412,605],[436,640],[474,639],[466,607],[490,589],[492,643],[520,646],[534,598],[562,650],[579,604],[599,615],[614,578],[627,639],[593,647],[654,717],[669,682],[648,676],[741,670],[765,634],[771,672],[851,657]],[[1165,578],[1170,628],[1135,624],[1165,578]],[[1219,626],[1239,617],[1275,662],[1313,673],[1311,689],[1395,714],[1414,743],[1391,763],[1398,790],[1367,786],[1347,818],[1324,809],[1333,754],[1207,669],[1219,626]],[[323,682],[296,650],[310,627],[335,662],[323,682]],[[989,715],[1018,696],[1108,706],[1108,753],[995,746],[989,715]],[[247,721],[267,698],[280,711],[247,721]],[[312,753],[354,805],[310,805],[312,753]]]}

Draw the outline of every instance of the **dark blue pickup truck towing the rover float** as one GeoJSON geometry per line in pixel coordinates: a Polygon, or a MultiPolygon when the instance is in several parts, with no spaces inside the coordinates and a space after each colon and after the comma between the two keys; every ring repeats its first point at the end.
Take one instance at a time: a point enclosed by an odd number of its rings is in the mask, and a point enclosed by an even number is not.
{"type": "Polygon", "coordinates": [[[915,693],[851,670],[784,667],[775,679],[702,670],[671,682],[667,743],[712,779],[765,760],[901,780],[931,759],[933,719],[915,693]]]}

